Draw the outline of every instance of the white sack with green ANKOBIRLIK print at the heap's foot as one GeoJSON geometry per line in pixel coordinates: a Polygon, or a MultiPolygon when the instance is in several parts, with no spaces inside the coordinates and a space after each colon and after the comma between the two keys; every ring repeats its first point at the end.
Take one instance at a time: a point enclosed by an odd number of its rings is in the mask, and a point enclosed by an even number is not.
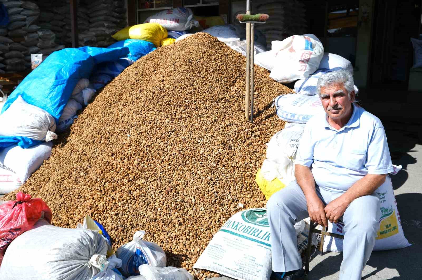
{"type": "Polygon", "coordinates": [[[268,280],[270,235],[265,208],[238,212],[214,235],[193,267],[235,279],[268,280]]]}

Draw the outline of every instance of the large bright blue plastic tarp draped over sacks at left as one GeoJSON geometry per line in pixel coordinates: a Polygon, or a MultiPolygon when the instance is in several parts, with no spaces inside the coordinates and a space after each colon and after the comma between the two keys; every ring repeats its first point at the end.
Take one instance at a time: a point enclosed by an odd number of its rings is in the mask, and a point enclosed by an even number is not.
{"type": "Polygon", "coordinates": [[[76,83],[89,78],[95,65],[126,57],[129,48],[65,48],[50,54],[8,97],[2,113],[19,95],[29,104],[46,110],[56,123],[63,113],[76,83]]]}

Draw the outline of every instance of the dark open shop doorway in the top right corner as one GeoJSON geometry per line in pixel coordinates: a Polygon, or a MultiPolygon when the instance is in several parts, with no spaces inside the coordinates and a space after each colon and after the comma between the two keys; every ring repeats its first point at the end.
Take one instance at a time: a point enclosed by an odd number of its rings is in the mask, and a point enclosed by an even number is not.
{"type": "Polygon", "coordinates": [[[421,0],[376,0],[368,87],[407,89],[412,67],[410,38],[419,37],[421,0]]]}

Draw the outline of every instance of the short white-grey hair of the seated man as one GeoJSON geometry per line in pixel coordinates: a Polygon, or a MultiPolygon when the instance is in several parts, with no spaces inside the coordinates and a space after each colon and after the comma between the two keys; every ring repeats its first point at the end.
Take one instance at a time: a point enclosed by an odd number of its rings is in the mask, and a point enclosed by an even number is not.
{"type": "Polygon", "coordinates": [[[350,73],[347,70],[336,70],[333,72],[325,73],[318,78],[318,82],[317,82],[318,95],[321,95],[322,87],[331,86],[336,83],[340,83],[344,86],[344,88],[347,91],[347,94],[349,95],[349,100],[350,100],[350,94],[352,93],[353,90],[355,90],[355,94],[357,94],[357,88],[354,86],[352,73],[350,73]]]}

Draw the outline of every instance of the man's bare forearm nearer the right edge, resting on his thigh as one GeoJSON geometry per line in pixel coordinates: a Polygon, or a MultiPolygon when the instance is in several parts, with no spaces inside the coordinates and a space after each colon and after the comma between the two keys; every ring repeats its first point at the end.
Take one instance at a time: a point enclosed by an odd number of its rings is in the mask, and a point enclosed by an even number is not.
{"type": "Polygon", "coordinates": [[[387,174],[367,174],[362,179],[354,183],[344,194],[341,195],[341,197],[343,197],[349,205],[358,197],[372,194],[385,182],[385,177],[387,177],[387,174]]]}

